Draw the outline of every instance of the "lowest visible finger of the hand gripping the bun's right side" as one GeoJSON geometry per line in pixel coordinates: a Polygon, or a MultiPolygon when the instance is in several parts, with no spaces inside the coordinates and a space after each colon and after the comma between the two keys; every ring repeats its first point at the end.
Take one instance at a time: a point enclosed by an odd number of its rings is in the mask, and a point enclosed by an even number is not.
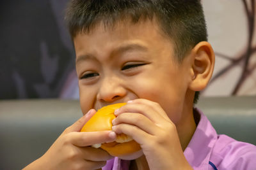
{"type": "Polygon", "coordinates": [[[148,141],[152,141],[153,137],[151,134],[148,134],[145,131],[142,131],[139,127],[129,124],[118,124],[112,127],[112,130],[116,132],[116,134],[127,134],[132,137],[137,143],[143,145],[144,143],[148,143],[148,141]]]}

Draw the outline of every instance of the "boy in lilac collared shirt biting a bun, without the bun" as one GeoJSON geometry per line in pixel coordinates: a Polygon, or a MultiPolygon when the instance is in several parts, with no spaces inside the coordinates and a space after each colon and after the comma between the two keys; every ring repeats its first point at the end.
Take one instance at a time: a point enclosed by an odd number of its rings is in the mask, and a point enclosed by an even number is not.
{"type": "Polygon", "coordinates": [[[218,136],[193,108],[214,67],[200,1],[74,0],[67,22],[87,113],[26,169],[254,168],[255,146],[218,136]],[[95,110],[122,102],[113,131],[79,132],[95,110]],[[139,152],[120,159],[90,147],[122,132],[139,152]]]}

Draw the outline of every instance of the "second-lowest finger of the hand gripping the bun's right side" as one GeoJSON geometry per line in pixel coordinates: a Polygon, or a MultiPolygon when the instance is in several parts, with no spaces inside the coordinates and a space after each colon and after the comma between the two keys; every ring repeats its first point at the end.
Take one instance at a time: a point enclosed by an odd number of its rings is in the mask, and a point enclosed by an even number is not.
{"type": "Polygon", "coordinates": [[[140,113],[122,113],[118,115],[112,121],[113,125],[118,124],[131,124],[139,127],[142,131],[147,132],[148,134],[156,134],[157,133],[157,125],[154,124],[149,118],[145,117],[140,113]]]}

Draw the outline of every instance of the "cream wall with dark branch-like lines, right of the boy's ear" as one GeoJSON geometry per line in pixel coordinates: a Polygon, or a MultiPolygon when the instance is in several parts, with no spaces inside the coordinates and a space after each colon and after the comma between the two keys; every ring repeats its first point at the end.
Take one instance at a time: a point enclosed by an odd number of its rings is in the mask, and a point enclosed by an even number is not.
{"type": "Polygon", "coordinates": [[[255,1],[204,0],[203,5],[209,42],[216,53],[214,74],[203,95],[255,95],[255,1]]]}

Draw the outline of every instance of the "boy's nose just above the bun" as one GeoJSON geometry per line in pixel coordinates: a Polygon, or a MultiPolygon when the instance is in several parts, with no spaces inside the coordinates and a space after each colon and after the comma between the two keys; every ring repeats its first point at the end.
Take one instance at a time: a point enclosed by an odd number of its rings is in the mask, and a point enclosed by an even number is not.
{"type": "Polygon", "coordinates": [[[122,99],[127,91],[122,85],[122,81],[118,77],[106,77],[100,83],[97,100],[102,103],[113,103],[122,99]]]}

